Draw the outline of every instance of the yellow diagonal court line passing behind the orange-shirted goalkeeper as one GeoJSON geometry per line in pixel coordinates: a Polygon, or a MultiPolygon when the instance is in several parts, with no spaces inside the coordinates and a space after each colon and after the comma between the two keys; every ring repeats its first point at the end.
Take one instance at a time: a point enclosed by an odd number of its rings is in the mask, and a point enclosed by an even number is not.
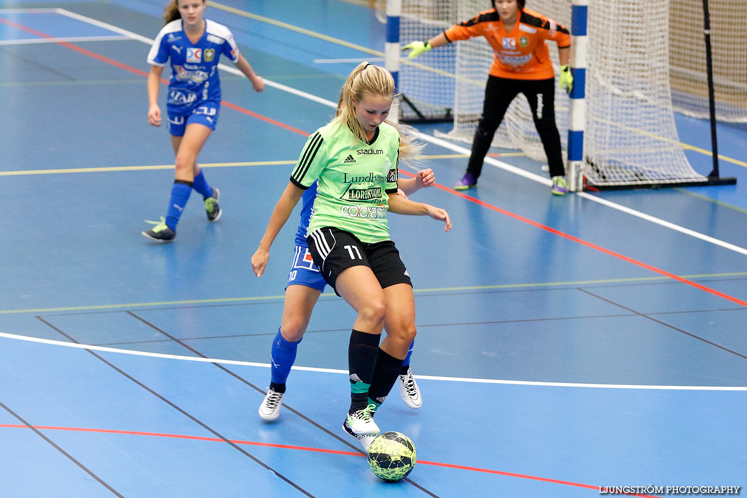
{"type": "MultiPolygon", "coordinates": [[[[208,5],[210,5],[211,7],[220,9],[220,10],[225,10],[226,12],[234,13],[237,16],[244,16],[244,17],[248,17],[249,19],[254,19],[255,21],[266,22],[267,24],[278,26],[279,28],[285,28],[290,31],[296,31],[297,33],[300,33],[300,34],[306,34],[309,37],[318,38],[320,40],[324,40],[329,43],[335,43],[337,45],[345,46],[349,49],[359,50],[360,52],[365,52],[366,54],[376,55],[378,57],[385,57],[384,52],[379,52],[378,50],[369,49],[368,47],[365,47],[365,46],[360,46],[360,45],[356,45],[355,43],[350,43],[344,40],[339,40],[338,38],[329,37],[326,34],[320,34],[320,33],[317,33],[316,31],[311,31],[309,29],[299,28],[298,26],[288,24],[287,22],[277,21],[275,19],[270,19],[269,17],[258,16],[257,14],[252,14],[250,12],[247,12],[246,10],[239,10],[235,7],[229,7],[227,5],[219,4],[211,0],[208,0],[208,5]]],[[[463,76],[455,75],[451,72],[441,71],[441,69],[435,69],[430,66],[425,66],[424,64],[412,62],[412,60],[408,60],[406,57],[401,57],[400,63],[407,64],[413,67],[417,67],[418,69],[423,69],[424,71],[434,72],[436,74],[446,76],[447,78],[454,78],[459,81],[466,81],[471,84],[476,84],[483,88],[485,87],[485,81],[475,81],[469,78],[465,78],[463,76]]],[[[648,137],[651,137],[657,140],[663,140],[665,142],[675,143],[675,144],[678,144],[679,146],[682,146],[684,149],[689,149],[695,152],[700,152],[701,154],[704,154],[704,155],[713,156],[713,153],[710,151],[707,151],[706,149],[701,149],[700,147],[691,146],[687,143],[678,142],[678,140],[672,140],[671,138],[660,137],[657,134],[653,134],[645,130],[640,130],[638,128],[631,128],[629,126],[621,125],[617,122],[608,121],[607,119],[597,118],[596,120],[598,122],[603,122],[607,125],[627,129],[628,131],[633,131],[634,133],[642,134],[642,135],[645,135],[645,136],[648,136],[648,137]]],[[[747,167],[747,162],[739,161],[738,159],[734,159],[734,158],[729,158],[725,155],[719,154],[719,159],[722,159],[723,161],[726,161],[728,163],[737,164],[737,166],[747,167]]]]}

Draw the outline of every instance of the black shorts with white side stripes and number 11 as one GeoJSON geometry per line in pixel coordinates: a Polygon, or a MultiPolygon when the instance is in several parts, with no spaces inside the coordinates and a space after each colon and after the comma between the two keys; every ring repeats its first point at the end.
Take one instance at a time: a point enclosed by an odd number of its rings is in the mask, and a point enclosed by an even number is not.
{"type": "Polygon", "coordinates": [[[342,270],[360,265],[371,268],[382,289],[395,284],[408,284],[412,287],[400,252],[391,240],[365,243],[349,231],[325,226],[312,231],[306,241],[314,264],[338,296],[340,294],[335,287],[338,275],[342,270]]]}

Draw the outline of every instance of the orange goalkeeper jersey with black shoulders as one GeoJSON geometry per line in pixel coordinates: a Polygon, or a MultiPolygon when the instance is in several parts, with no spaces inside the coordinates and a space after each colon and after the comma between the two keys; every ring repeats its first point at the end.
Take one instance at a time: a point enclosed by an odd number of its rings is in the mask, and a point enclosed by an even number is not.
{"type": "Polygon", "coordinates": [[[468,21],[444,31],[447,40],[485,37],[494,57],[489,74],[498,78],[544,80],[554,78],[548,44],[554,40],[559,49],[571,46],[568,29],[533,10],[521,10],[513,31],[506,33],[495,8],[480,12],[468,21]]]}

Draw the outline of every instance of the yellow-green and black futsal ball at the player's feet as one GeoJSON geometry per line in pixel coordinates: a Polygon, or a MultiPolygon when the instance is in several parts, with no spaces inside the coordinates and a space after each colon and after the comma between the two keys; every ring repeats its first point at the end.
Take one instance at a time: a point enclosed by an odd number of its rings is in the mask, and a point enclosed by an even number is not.
{"type": "Polygon", "coordinates": [[[376,436],[368,448],[368,465],[376,477],[399,481],[412,472],[418,454],[415,444],[400,432],[384,432],[376,436]]]}

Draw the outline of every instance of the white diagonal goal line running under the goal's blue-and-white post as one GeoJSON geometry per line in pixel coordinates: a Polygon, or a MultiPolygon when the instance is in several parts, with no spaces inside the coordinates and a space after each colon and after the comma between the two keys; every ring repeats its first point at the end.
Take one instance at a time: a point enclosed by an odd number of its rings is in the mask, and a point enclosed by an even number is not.
{"type": "MultiPolygon", "coordinates": [[[[153,44],[153,40],[151,40],[150,38],[143,37],[140,34],[133,33],[132,31],[127,31],[123,28],[118,28],[117,26],[108,24],[106,22],[98,21],[96,19],[91,19],[90,17],[86,17],[86,16],[81,16],[80,14],[76,14],[76,13],[70,12],[69,10],[64,10],[60,8],[55,9],[55,12],[61,13],[63,16],[68,16],[68,17],[72,17],[73,19],[78,19],[83,22],[88,22],[90,24],[99,26],[101,28],[109,29],[111,31],[114,31],[115,33],[123,34],[127,37],[131,37],[133,40],[139,40],[149,45],[153,44]]],[[[241,71],[239,71],[235,67],[226,66],[224,64],[219,64],[218,66],[220,67],[220,69],[223,69],[227,72],[231,72],[232,74],[243,76],[241,71]]],[[[270,81],[267,79],[264,80],[264,84],[266,84],[268,87],[274,87],[278,90],[282,90],[283,92],[293,93],[294,95],[303,97],[304,99],[309,99],[313,102],[317,102],[322,105],[326,105],[327,107],[330,107],[333,109],[337,108],[337,102],[332,102],[331,100],[322,99],[321,97],[311,95],[311,93],[306,93],[301,90],[296,90],[295,88],[292,88],[292,87],[287,87],[284,84],[275,83],[274,81],[270,81]]],[[[446,140],[441,140],[440,138],[432,137],[420,131],[418,131],[418,137],[420,137],[421,140],[425,140],[427,142],[436,144],[438,146],[444,147],[445,149],[450,149],[454,152],[459,152],[459,154],[469,155],[471,152],[469,149],[465,149],[465,147],[447,142],[446,140]]],[[[495,158],[486,157],[485,162],[488,164],[492,164],[492,166],[497,166],[498,168],[503,169],[507,172],[511,172],[515,175],[522,176],[532,181],[536,181],[537,183],[540,183],[543,185],[549,186],[552,184],[552,181],[550,180],[550,178],[545,178],[544,176],[536,175],[533,172],[525,171],[524,169],[518,168],[516,166],[512,166],[511,164],[508,164],[508,163],[504,163],[503,161],[498,161],[498,159],[495,159],[495,158]]],[[[656,225],[663,226],[664,228],[669,228],[674,231],[679,231],[681,234],[689,235],[690,237],[695,237],[696,239],[703,240],[704,242],[712,243],[716,246],[723,247],[724,249],[729,249],[730,251],[738,252],[741,255],[747,256],[747,249],[740,247],[740,246],[735,246],[734,244],[725,242],[724,240],[719,240],[714,237],[701,234],[698,231],[690,230],[689,228],[685,228],[684,226],[675,225],[672,222],[661,220],[660,218],[653,217],[650,214],[645,214],[645,213],[642,213],[641,211],[636,211],[635,209],[627,208],[626,206],[619,205],[616,202],[611,202],[606,199],[602,199],[601,197],[598,197],[598,196],[592,196],[586,192],[576,192],[574,194],[577,196],[583,197],[583,199],[588,199],[593,202],[598,202],[599,204],[607,206],[608,208],[616,209],[617,211],[630,214],[631,216],[638,217],[642,220],[646,220],[656,225]]]]}

